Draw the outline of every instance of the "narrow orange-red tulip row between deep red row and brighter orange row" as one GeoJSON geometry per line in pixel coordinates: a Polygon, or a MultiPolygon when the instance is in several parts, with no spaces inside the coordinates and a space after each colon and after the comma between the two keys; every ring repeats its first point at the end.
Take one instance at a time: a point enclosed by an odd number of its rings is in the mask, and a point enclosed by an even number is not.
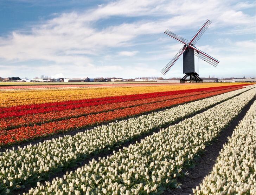
{"type": "MultiPolygon", "coordinates": [[[[233,88],[233,89],[237,89],[237,88],[233,88]]],[[[83,107],[83,108],[77,108],[77,109],[54,111],[49,113],[24,115],[21,117],[3,118],[3,119],[0,119],[0,129],[8,130],[13,128],[18,128],[21,126],[39,125],[45,122],[51,122],[55,120],[69,119],[71,117],[85,116],[88,114],[96,114],[96,113],[106,112],[110,110],[133,107],[133,106],[138,106],[138,105],[143,105],[143,104],[148,104],[153,102],[178,99],[181,97],[188,97],[192,95],[210,93],[218,90],[219,89],[212,89],[212,90],[207,90],[203,92],[192,92],[192,93],[185,93],[185,94],[178,94],[178,95],[168,95],[163,97],[153,97],[153,98],[142,99],[142,100],[133,100],[133,101],[118,102],[118,103],[104,104],[104,105],[91,106],[91,107],[83,107]]]]}

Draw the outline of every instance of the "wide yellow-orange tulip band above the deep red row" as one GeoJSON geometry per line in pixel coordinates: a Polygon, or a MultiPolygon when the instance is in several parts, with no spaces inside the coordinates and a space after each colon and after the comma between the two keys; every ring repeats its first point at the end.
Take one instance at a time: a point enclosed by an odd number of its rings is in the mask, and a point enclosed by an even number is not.
{"type": "MultiPolygon", "coordinates": [[[[232,85],[241,85],[233,83],[232,85]]],[[[245,84],[246,85],[246,84],[245,84]]],[[[61,102],[70,100],[83,100],[98,97],[134,95],[154,92],[167,92],[185,89],[196,89],[205,87],[217,87],[216,84],[198,85],[165,85],[165,86],[140,86],[140,87],[105,87],[105,88],[81,88],[81,89],[41,89],[41,90],[7,90],[0,91],[0,107],[30,105],[38,103],[61,102]]],[[[222,83],[221,86],[230,86],[229,83],[222,83]]]]}

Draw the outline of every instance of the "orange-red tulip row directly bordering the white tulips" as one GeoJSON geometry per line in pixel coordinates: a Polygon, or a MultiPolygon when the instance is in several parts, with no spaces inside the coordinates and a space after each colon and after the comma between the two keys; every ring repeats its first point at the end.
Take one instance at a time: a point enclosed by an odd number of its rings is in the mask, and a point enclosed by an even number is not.
{"type": "Polygon", "coordinates": [[[199,94],[189,97],[182,97],[179,99],[166,100],[163,102],[149,103],[146,105],[81,116],[78,118],[65,119],[62,121],[54,121],[42,124],[40,126],[35,125],[32,127],[19,127],[11,130],[0,130],[0,146],[29,141],[38,137],[45,137],[60,132],[83,129],[85,127],[96,125],[102,122],[108,122],[129,116],[139,115],[156,109],[166,108],[193,100],[203,99],[206,97],[226,93],[232,90],[235,89],[226,89],[217,92],[199,94]]]}

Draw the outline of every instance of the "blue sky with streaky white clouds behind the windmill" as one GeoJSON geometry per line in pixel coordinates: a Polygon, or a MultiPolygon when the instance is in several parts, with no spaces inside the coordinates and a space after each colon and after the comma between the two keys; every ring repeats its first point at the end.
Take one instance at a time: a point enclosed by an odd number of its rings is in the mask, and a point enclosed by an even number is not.
{"type": "Polygon", "coordinates": [[[0,0],[0,76],[183,77],[183,47],[165,30],[220,62],[195,57],[200,77],[255,77],[255,1],[0,0]]]}

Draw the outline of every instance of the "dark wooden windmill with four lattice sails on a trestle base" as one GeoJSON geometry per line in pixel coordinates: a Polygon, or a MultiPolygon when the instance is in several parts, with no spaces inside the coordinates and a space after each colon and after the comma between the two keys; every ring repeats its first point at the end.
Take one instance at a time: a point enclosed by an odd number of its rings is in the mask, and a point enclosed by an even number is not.
{"type": "Polygon", "coordinates": [[[212,66],[216,67],[219,63],[218,60],[211,57],[210,55],[202,52],[194,44],[201,38],[201,36],[204,34],[206,29],[210,26],[212,21],[206,20],[206,22],[203,24],[203,26],[197,31],[197,33],[192,37],[190,41],[180,37],[177,34],[174,34],[173,32],[166,30],[164,34],[167,36],[170,36],[171,38],[179,41],[180,43],[183,43],[184,46],[180,49],[180,51],[174,56],[174,58],[164,67],[164,69],[161,70],[161,73],[166,75],[166,73],[169,71],[169,69],[174,65],[174,63],[179,59],[181,54],[183,54],[183,73],[186,75],[180,79],[180,83],[184,83],[185,81],[189,80],[190,82],[203,82],[202,79],[200,79],[198,73],[195,72],[195,60],[194,56],[198,56],[198,58],[208,62],[212,66]],[[186,79],[189,76],[190,79],[186,79]]]}

